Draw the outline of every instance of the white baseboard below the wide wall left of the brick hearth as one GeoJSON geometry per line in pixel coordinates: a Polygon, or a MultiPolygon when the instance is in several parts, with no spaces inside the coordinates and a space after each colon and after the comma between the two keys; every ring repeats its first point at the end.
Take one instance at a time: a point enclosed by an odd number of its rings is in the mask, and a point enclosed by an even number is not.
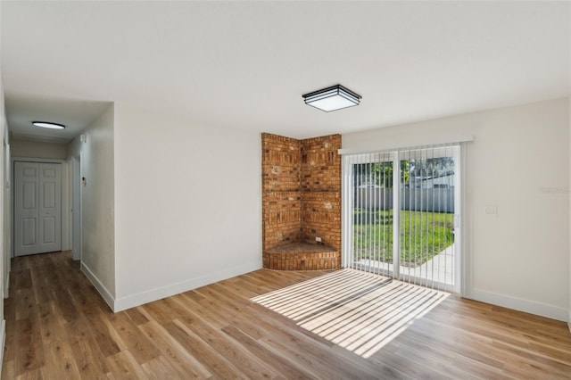
{"type": "Polygon", "coordinates": [[[197,287],[209,285],[218,281],[225,280],[230,277],[243,275],[244,273],[252,272],[261,268],[260,260],[252,261],[247,264],[240,265],[234,268],[226,268],[216,272],[211,272],[207,275],[194,277],[186,281],[182,281],[172,285],[165,285],[145,292],[128,295],[115,300],[113,311],[127,310],[136,306],[142,305],[147,302],[161,300],[171,295],[184,293],[189,290],[196,289],[197,287]]]}

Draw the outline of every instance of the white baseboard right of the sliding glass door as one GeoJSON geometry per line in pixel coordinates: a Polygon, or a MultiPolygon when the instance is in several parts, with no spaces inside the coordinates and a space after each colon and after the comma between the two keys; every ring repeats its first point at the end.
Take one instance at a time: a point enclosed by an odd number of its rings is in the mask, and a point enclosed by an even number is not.
{"type": "Polygon", "coordinates": [[[533,302],[521,298],[511,297],[505,294],[492,293],[482,289],[472,289],[472,291],[469,292],[469,296],[467,298],[476,301],[492,303],[493,305],[503,306],[504,308],[508,309],[524,311],[526,313],[535,314],[542,317],[557,319],[563,322],[571,321],[571,317],[568,316],[568,310],[566,309],[540,302],[533,302]]]}

